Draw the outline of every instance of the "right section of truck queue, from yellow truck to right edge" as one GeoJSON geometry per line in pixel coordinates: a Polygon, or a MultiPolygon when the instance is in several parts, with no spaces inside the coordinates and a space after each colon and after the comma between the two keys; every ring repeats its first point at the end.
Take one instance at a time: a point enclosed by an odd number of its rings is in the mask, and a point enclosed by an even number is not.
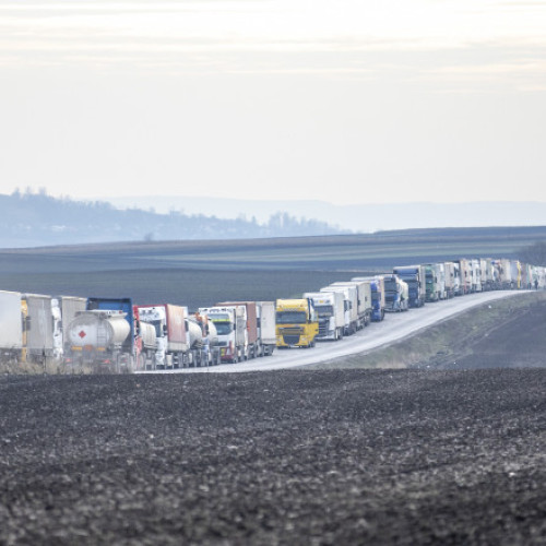
{"type": "Polygon", "coordinates": [[[403,265],[392,273],[333,283],[300,299],[277,300],[278,347],[312,347],[403,312],[465,294],[494,289],[546,287],[544,268],[518,260],[460,259],[403,265]]]}

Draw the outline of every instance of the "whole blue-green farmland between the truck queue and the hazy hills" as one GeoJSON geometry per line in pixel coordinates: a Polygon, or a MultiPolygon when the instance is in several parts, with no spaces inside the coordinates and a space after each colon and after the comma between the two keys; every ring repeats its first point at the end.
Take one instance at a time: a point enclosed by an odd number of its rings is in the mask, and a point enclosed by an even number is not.
{"type": "Polygon", "coordinates": [[[546,227],[453,228],[216,241],[142,241],[0,251],[0,289],[130,296],[190,309],[226,299],[295,297],[394,265],[515,258],[546,227]]]}

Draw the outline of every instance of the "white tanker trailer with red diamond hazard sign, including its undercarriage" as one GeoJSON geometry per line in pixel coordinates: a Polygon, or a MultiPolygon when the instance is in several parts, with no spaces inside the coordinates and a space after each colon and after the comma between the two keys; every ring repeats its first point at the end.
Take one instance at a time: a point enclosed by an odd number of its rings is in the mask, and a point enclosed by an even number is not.
{"type": "Polygon", "coordinates": [[[131,335],[131,325],[123,311],[81,311],[70,322],[66,334],[67,364],[88,365],[94,371],[119,372],[127,368],[123,346],[131,335]]]}

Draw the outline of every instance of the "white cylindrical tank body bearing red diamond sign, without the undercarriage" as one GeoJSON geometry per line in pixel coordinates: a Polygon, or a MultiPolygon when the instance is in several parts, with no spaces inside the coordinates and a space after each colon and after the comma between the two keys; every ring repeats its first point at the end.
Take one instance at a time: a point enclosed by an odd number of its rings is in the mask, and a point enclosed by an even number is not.
{"type": "Polygon", "coordinates": [[[83,311],[68,325],[68,340],[73,347],[120,346],[131,332],[124,312],[83,311]]]}

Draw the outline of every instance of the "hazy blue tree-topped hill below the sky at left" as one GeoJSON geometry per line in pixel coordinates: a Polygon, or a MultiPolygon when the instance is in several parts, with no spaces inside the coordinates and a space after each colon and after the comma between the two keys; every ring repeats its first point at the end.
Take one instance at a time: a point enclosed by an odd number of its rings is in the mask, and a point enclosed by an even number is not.
{"type": "Polygon", "coordinates": [[[74,201],[39,193],[0,194],[0,248],[86,242],[245,239],[347,233],[327,222],[276,213],[268,222],[118,210],[105,201],[74,201]]]}

